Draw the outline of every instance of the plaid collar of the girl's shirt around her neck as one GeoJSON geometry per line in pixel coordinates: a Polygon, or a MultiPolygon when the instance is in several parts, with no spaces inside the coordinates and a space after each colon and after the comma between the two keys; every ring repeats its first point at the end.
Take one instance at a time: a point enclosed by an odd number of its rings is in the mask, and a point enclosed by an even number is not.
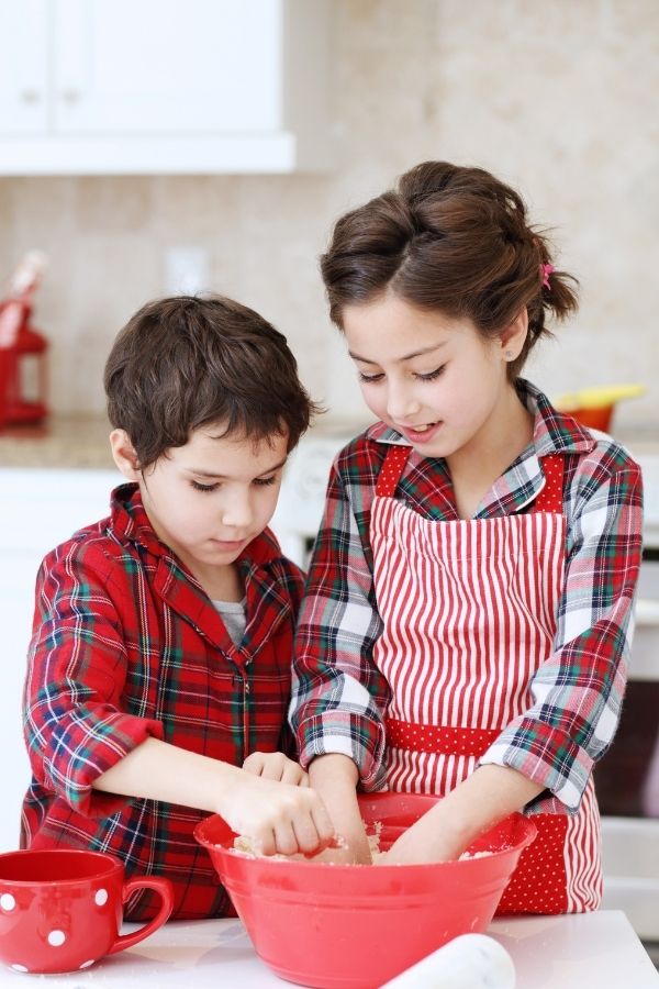
{"type": "MultiPolygon", "coordinates": [[[[546,395],[530,381],[518,378],[517,392],[534,415],[533,441],[514,460],[507,470],[496,479],[481,501],[474,518],[518,512],[532,501],[545,486],[545,475],[540,459],[565,454],[584,454],[594,449],[596,441],[592,433],[581,426],[571,415],[563,415],[550,403],[546,395]]],[[[411,446],[395,430],[377,422],[367,430],[366,436],[375,443],[411,446]]],[[[424,458],[412,453],[410,464],[424,458]]],[[[444,467],[446,482],[450,486],[448,470],[444,467]]]]}

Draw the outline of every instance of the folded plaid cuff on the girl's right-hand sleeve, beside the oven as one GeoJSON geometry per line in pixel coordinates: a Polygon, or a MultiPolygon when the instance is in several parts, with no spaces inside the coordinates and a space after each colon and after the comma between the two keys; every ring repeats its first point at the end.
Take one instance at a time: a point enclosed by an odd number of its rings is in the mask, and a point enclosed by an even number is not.
{"type": "Polygon", "coordinates": [[[560,729],[525,718],[509,725],[480,765],[507,766],[548,792],[526,804],[532,814],[577,813],[593,759],[560,729]]]}

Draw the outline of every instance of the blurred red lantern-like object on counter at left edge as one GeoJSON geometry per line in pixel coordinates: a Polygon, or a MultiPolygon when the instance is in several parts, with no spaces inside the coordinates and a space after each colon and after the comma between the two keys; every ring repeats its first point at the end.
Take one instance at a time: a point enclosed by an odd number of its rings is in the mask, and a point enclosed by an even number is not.
{"type": "Polygon", "coordinates": [[[0,301],[0,429],[38,423],[48,414],[48,341],[32,325],[32,297],[44,267],[41,253],[25,255],[9,297],[0,301]]]}

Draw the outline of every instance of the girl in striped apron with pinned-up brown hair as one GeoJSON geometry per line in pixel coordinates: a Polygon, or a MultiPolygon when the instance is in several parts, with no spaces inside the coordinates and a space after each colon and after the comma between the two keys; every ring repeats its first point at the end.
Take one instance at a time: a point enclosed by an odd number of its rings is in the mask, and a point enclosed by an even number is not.
{"type": "Polygon", "coordinates": [[[576,280],[515,191],[442,162],[343,216],[322,273],[379,421],[334,464],[299,625],[311,785],[355,862],[356,786],[445,798],[389,863],[456,858],[524,810],[538,836],[500,912],[594,910],[641,484],[520,377],[576,280]]]}

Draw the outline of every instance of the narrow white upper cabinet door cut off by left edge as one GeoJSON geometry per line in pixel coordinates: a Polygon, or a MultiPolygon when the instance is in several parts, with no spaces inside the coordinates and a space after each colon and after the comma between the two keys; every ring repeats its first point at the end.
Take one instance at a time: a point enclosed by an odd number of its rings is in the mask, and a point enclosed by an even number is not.
{"type": "Polygon", "coordinates": [[[48,126],[48,0],[0,0],[0,131],[43,134],[48,126]]]}

